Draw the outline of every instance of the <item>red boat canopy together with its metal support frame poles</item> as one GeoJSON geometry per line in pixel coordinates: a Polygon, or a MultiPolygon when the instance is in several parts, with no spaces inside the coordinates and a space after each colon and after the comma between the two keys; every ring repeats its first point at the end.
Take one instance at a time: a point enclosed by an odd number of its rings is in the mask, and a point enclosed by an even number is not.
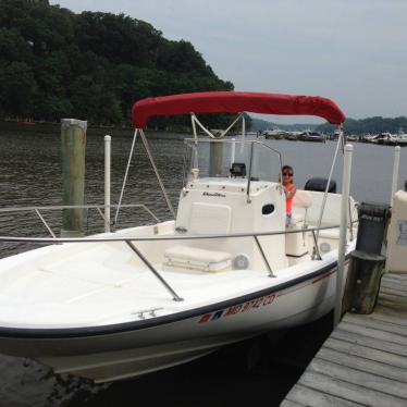
{"type": "MultiPolygon", "coordinates": [[[[194,92],[194,94],[182,94],[172,96],[162,96],[156,98],[147,98],[139,100],[133,104],[132,109],[132,122],[136,128],[131,155],[128,157],[126,174],[124,176],[122,192],[119,199],[119,207],[116,210],[114,223],[118,221],[119,210],[123,197],[124,187],[128,174],[128,168],[131,158],[133,155],[134,144],[139,131],[146,151],[150,158],[152,168],[156,172],[157,178],[161,186],[165,201],[175,218],[175,211],[171,205],[169,196],[163,187],[161,177],[157,171],[157,166],[153,162],[152,156],[149,151],[147,139],[144,135],[143,128],[147,125],[148,120],[151,116],[157,115],[176,115],[176,114],[190,114],[192,123],[194,128],[194,136],[196,135],[195,125],[200,125],[199,121],[195,116],[196,113],[266,113],[266,114],[282,114],[282,115],[314,115],[325,119],[331,124],[340,126],[340,139],[335,150],[334,160],[331,166],[329,182],[326,183],[326,189],[324,194],[323,205],[321,208],[319,227],[321,226],[321,219],[323,215],[328,187],[332,177],[333,168],[335,165],[337,151],[340,145],[344,147],[344,134],[343,123],[345,122],[345,114],[340,107],[328,98],[320,96],[299,96],[299,95],[282,95],[282,94],[264,94],[264,92],[243,92],[243,91],[206,91],[206,92],[194,92]]],[[[242,116],[242,115],[240,115],[242,116]]],[[[243,119],[243,131],[242,137],[245,136],[245,120],[243,119]]],[[[235,122],[234,122],[235,123],[235,122]]],[[[233,124],[234,124],[233,123],[233,124]]],[[[231,126],[233,126],[233,124],[231,126]]],[[[201,126],[201,125],[200,125],[201,126]]],[[[230,127],[231,127],[230,126],[230,127]]],[[[201,126],[202,127],[202,126],[201,126]]],[[[227,128],[229,130],[229,128],[227,128]]],[[[225,133],[222,133],[222,136],[225,133]]],[[[206,131],[210,137],[213,137],[210,132],[206,131]]],[[[242,143],[242,146],[244,144],[242,143]]],[[[317,237],[318,238],[318,237],[317,237]]]]}

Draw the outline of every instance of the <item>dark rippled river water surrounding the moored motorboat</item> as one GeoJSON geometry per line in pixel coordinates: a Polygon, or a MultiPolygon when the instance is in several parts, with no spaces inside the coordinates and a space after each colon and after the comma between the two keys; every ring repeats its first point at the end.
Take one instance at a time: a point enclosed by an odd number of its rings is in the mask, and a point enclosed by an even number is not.
{"type": "MultiPolygon", "coordinates": [[[[88,131],[86,200],[103,203],[103,135],[88,131]]],[[[114,131],[112,135],[112,201],[119,199],[121,183],[132,144],[132,132],[114,131]]],[[[156,135],[157,136],[157,135],[156,135]]],[[[326,176],[335,144],[268,140],[281,151],[283,164],[295,169],[295,183],[303,187],[311,176],[326,176]]],[[[0,132],[0,208],[8,206],[61,205],[61,157],[59,127],[20,128],[0,132]]],[[[183,150],[181,139],[165,135],[150,139],[151,151],[171,200],[176,207],[182,186],[183,150]]],[[[386,202],[390,199],[392,147],[355,144],[351,194],[359,200],[386,202]]],[[[407,149],[402,149],[399,187],[407,180],[407,149]]],[[[262,157],[268,162],[270,156],[262,157]]],[[[342,160],[342,158],[341,158],[342,160]]],[[[334,178],[341,188],[341,161],[334,178]]],[[[270,161],[270,165],[275,165],[270,161]]],[[[257,169],[255,169],[257,171],[257,169]]],[[[124,203],[145,203],[160,219],[171,214],[160,196],[153,171],[137,144],[130,171],[124,203]]],[[[120,226],[150,221],[137,212],[134,221],[123,210],[120,226]]],[[[61,227],[59,212],[44,212],[51,227],[61,227]]],[[[46,235],[47,230],[33,213],[0,217],[1,235],[46,235]]],[[[102,230],[98,213],[88,212],[88,233],[102,230]]],[[[2,244],[0,257],[28,248],[27,245],[2,244]]],[[[273,334],[231,346],[212,356],[144,378],[95,385],[86,380],[54,375],[49,369],[29,359],[0,356],[0,406],[246,406],[267,403],[278,406],[297,380],[307,361],[318,349],[331,319],[298,328],[274,344],[273,334]],[[316,335],[316,332],[318,333],[316,335]],[[298,337],[301,337],[298,343],[298,337]]]]}

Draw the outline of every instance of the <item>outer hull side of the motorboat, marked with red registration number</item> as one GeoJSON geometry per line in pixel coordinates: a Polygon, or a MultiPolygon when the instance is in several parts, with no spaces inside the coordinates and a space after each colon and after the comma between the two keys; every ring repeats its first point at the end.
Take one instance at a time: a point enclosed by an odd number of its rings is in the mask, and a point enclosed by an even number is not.
{"type": "Polygon", "coordinates": [[[106,382],[205,356],[250,336],[311,322],[334,305],[336,263],[283,288],[271,287],[172,318],[125,326],[0,331],[2,353],[32,357],[57,373],[106,382]]]}

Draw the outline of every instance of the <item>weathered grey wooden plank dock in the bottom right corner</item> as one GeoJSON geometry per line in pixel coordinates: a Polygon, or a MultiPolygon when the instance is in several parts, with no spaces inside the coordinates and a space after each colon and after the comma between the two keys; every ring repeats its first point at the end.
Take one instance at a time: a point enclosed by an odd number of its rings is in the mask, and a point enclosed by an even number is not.
{"type": "Polygon", "coordinates": [[[407,407],[407,274],[385,274],[371,314],[346,313],[282,407],[407,407]]]}

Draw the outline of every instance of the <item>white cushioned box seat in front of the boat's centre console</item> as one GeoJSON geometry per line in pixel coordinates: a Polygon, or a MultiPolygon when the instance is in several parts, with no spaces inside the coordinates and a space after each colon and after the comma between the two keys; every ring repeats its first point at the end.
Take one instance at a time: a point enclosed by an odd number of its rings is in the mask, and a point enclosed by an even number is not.
{"type": "Polygon", "coordinates": [[[174,246],[164,251],[164,266],[198,271],[217,272],[231,269],[232,257],[225,251],[174,246]]]}

